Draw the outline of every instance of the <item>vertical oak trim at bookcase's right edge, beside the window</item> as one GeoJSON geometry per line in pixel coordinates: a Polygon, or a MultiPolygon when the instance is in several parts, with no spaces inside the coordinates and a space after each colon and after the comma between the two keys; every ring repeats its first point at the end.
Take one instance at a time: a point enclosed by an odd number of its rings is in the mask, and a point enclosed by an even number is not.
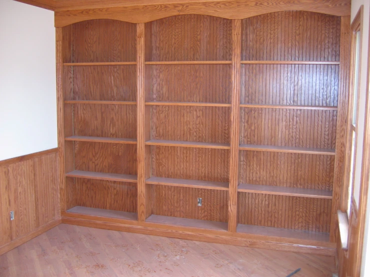
{"type": "Polygon", "coordinates": [[[337,240],[337,210],[342,209],[343,166],[345,160],[346,123],[350,68],[350,16],[340,18],[338,111],[336,120],[335,160],[333,172],[333,200],[331,202],[330,241],[337,240]]]}

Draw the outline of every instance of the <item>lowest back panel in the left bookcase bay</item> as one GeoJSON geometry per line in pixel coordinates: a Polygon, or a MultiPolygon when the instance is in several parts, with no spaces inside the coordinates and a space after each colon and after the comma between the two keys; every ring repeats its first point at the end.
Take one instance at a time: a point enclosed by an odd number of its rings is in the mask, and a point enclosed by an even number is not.
{"type": "Polygon", "coordinates": [[[137,211],[135,183],[76,178],[76,205],[128,212],[137,211]]]}

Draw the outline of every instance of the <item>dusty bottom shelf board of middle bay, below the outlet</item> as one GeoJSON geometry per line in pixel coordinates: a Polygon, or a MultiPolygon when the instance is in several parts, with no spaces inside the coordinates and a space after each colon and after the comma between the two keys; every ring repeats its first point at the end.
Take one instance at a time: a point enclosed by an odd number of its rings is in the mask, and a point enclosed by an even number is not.
{"type": "Polygon", "coordinates": [[[146,222],[227,231],[227,223],[152,214],[146,222]]]}

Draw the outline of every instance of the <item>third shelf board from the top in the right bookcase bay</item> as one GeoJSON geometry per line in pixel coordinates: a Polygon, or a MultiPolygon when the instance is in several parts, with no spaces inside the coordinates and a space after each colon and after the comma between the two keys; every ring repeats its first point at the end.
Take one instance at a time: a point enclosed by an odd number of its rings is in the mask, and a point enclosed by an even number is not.
{"type": "Polygon", "coordinates": [[[308,148],[308,147],[290,147],[290,146],[272,146],[272,145],[254,145],[240,144],[239,150],[266,151],[266,152],[285,152],[285,153],[303,153],[317,155],[335,155],[334,149],[308,148]]]}

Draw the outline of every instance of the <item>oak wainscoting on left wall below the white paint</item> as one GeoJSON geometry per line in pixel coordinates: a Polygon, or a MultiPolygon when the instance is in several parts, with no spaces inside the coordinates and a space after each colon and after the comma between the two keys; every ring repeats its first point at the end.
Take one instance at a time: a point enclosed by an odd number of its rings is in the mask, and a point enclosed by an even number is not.
{"type": "Polygon", "coordinates": [[[58,148],[0,161],[0,195],[2,255],[61,222],[58,148]]]}

